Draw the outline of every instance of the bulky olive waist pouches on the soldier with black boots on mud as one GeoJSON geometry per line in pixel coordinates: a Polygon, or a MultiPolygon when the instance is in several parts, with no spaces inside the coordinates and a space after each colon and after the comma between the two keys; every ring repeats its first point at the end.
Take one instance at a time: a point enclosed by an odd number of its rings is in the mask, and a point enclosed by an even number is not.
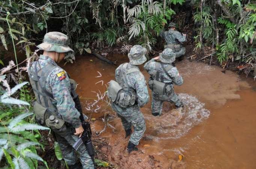
{"type": "Polygon", "coordinates": [[[108,98],[122,108],[134,105],[136,92],[125,91],[116,81],[110,80],[107,91],[108,98]]]}

